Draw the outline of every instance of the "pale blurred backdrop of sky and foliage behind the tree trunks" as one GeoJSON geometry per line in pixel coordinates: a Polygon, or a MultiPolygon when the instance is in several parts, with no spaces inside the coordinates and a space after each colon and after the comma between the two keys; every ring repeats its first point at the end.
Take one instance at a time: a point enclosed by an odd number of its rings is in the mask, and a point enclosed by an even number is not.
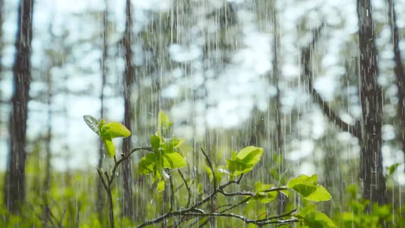
{"type": "MultiPolygon", "coordinates": [[[[163,109],[172,117],[176,135],[187,138],[194,149],[204,143],[216,145],[218,149],[221,141],[227,141],[235,150],[255,144],[274,152],[277,85],[273,71],[273,34],[277,30],[281,150],[285,152],[288,168],[299,173],[318,172],[321,179],[329,175],[336,180],[341,179],[339,175],[357,170],[358,140],[334,127],[312,101],[302,81],[299,57],[312,38],[312,30],[324,24],[313,53],[314,85],[345,122],[353,124],[359,119],[356,3],[349,0],[286,0],[277,1],[276,5],[268,0],[225,4],[218,0],[191,2],[191,8],[185,10],[182,1],[132,1],[132,61],[137,78],[132,90],[135,104],[132,145],[148,144],[156,115],[163,109]],[[324,173],[323,164],[327,160],[333,160],[337,167],[332,174],[324,173]]],[[[1,12],[5,20],[1,37],[1,170],[5,169],[9,152],[17,3],[5,0],[1,12]]],[[[380,54],[379,82],[384,89],[382,152],[386,167],[402,162],[404,153],[395,135],[397,89],[393,83],[386,3],[373,1],[373,7],[378,30],[375,43],[380,54]]],[[[395,10],[397,25],[404,30],[405,2],[397,1],[395,10]]],[[[104,1],[96,0],[34,3],[27,152],[43,147],[40,141],[51,121],[55,170],[86,170],[97,165],[97,135],[84,124],[82,115],[100,118],[104,26],[108,31],[104,119],[122,122],[124,12],[124,1],[108,1],[108,8],[104,1]],[[106,25],[102,21],[104,10],[108,12],[106,25]],[[50,82],[45,80],[47,75],[50,82]]],[[[400,47],[404,52],[404,41],[400,47]]],[[[120,139],[115,142],[119,144],[120,139]]],[[[404,167],[398,170],[394,179],[403,184],[404,167]]]]}

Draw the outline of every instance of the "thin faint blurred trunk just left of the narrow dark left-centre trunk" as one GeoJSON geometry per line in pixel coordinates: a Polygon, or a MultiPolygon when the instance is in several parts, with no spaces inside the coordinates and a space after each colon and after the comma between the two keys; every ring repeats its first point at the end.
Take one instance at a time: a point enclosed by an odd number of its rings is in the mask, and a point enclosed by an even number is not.
{"type": "MultiPolygon", "coordinates": [[[[100,61],[101,65],[101,73],[102,73],[102,87],[100,91],[100,118],[104,118],[104,87],[106,87],[106,74],[107,74],[107,68],[106,68],[106,60],[108,56],[107,52],[107,29],[108,29],[108,22],[107,22],[107,16],[108,16],[108,0],[104,1],[104,12],[103,12],[103,19],[102,19],[102,58],[100,61]]],[[[98,153],[98,163],[97,163],[97,168],[100,170],[102,168],[103,164],[103,157],[104,157],[104,150],[103,150],[103,143],[100,141],[99,145],[99,153],[98,153]]],[[[97,203],[96,203],[96,210],[98,214],[98,218],[101,221],[103,219],[103,207],[104,207],[104,195],[103,195],[103,187],[102,187],[102,181],[101,179],[98,179],[97,181],[97,203]]]]}

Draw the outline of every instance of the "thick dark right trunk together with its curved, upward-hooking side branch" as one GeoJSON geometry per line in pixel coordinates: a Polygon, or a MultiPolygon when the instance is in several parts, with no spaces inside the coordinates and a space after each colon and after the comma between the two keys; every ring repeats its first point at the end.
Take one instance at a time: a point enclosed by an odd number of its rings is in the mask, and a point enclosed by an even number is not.
{"type": "Polygon", "coordinates": [[[369,0],[358,0],[359,19],[359,49],[360,49],[360,75],[359,93],[362,106],[360,122],[354,125],[343,122],[342,119],[323,100],[319,92],[314,89],[313,73],[309,62],[312,48],[322,30],[320,27],[314,31],[314,38],[310,46],[301,52],[301,61],[304,67],[305,83],[308,92],[328,119],[341,130],[357,137],[360,143],[360,180],[362,181],[362,196],[371,203],[386,203],[386,185],[382,168],[382,89],[378,84],[377,49],[374,44],[374,24],[369,0]]]}

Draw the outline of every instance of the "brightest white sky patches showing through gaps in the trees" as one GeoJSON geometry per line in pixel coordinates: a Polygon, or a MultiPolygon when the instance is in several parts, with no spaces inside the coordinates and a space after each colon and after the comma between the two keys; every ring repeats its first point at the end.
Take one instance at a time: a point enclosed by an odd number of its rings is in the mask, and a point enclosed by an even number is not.
{"type": "MultiPolygon", "coordinates": [[[[235,2],[240,2],[238,0],[235,2]]],[[[3,31],[5,34],[4,40],[11,41],[14,39],[15,25],[16,25],[16,3],[18,1],[5,1],[5,10],[7,10],[8,16],[5,17],[5,23],[3,24],[3,31]]],[[[63,29],[69,31],[67,43],[72,44],[78,39],[86,36],[90,36],[92,33],[100,30],[99,26],[89,25],[78,21],[77,17],[71,16],[71,14],[78,14],[80,12],[89,12],[89,10],[102,10],[104,5],[100,0],[38,0],[35,1],[34,8],[34,41],[33,49],[34,55],[32,56],[32,63],[34,66],[42,66],[46,64],[46,60],[43,59],[43,50],[49,45],[49,25],[53,23],[52,31],[56,34],[63,32],[63,29]],[[62,28],[62,29],[61,29],[62,28]]],[[[281,2],[281,1],[279,1],[281,2]]],[[[281,52],[283,58],[283,66],[281,67],[283,76],[288,83],[294,84],[299,80],[299,66],[297,65],[297,45],[305,45],[308,43],[310,37],[297,36],[297,22],[299,22],[303,16],[309,16],[311,19],[308,23],[309,27],[316,27],[320,21],[327,21],[329,25],[340,25],[336,30],[328,31],[329,37],[327,37],[327,43],[323,43],[324,53],[321,62],[323,67],[321,75],[317,76],[315,81],[315,87],[318,89],[325,98],[325,100],[332,100],[336,93],[336,89],[339,87],[340,76],[345,71],[341,67],[342,62],[339,56],[341,56],[341,49],[347,41],[352,39],[351,34],[354,34],[357,29],[356,24],[356,8],[352,1],[299,1],[294,0],[283,1],[283,12],[281,18],[283,23],[280,25],[283,40],[281,42],[281,52]]],[[[375,1],[375,7],[382,7],[382,1],[375,1]]],[[[135,16],[137,21],[143,21],[146,23],[148,18],[143,14],[142,10],[160,8],[167,9],[167,1],[162,0],[148,0],[148,1],[133,1],[135,16]]],[[[108,9],[111,10],[111,20],[117,24],[117,31],[124,31],[124,1],[110,1],[108,9]]],[[[403,9],[403,6],[397,6],[403,9]],[[402,8],[401,8],[402,7],[402,8]]],[[[271,49],[270,46],[272,40],[268,32],[259,32],[259,23],[253,23],[254,14],[246,10],[240,12],[242,21],[242,32],[244,34],[239,45],[241,48],[236,52],[232,58],[233,65],[226,67],[224,71],[220,73],[219,81],[212,81],[208,84],[210,91],[215,91],[211,99],[219,100],[218,106],[215,109],[209,109],[207,111],[207,121],[209,126],[220,128],[231,128],[238,126],[242,120],[249,117],[253,106],[257,105],[259,109],[267,109],[267,99],[269,96],[275,95],[275,88],[269,86],[264,75],[267,71],[272,69],[271,66],[271,49]]],[[[379,14],[375,15],[377,18],[379,14]]],[[[405,20],[399,19],[398,25],[404,27],[405,20]]],[[[322,45],[322,44],[321,44],[322,45]]],[[[73,54],[80,56],[80,65],[82,67],[95,67],[98,69],[100,62],[100,50],[94,50],[89,45],[89,50],[71,47],[73,54]]],[[[3,50],[3,65],[11,66],[13,61],[14,48],[12,46],[5,47],[3,50]]],[[[182,45],[172,45],[169,49],[170,55],[174,60],[182,62],[185,60],[198,60],[201,53],[200,49],[196,45],[189,47],[183,47],[182,45]]],[[[354,51],[355,52],[355,51],[354,51]]],[[[350,56],[352,53],[346,54],[350,56]]],[[[115,67],[123,65],[122,61],[117,60],[115,67]]],[[[66,86],[69,89],[80,90],[93,87],[94,98],[78,97],[70,95],[68,98],[62,95],[56,95],[54,97],[55,109],[61,109],[65,104],[68,106],[69,124],[65,126],[63,116],[55,114],[53,116],[54,133],[65,135],[63,140],[66,140],[69,144],[69,150],[72,151],[72,158],[68,166],[71,168],[83,167],[83,165],[95,166],[97,161],[97,137],[87,128],[82,121],[82,115],[94,115],[98,117],[100,102],[97,100],[97,94],[100,93],[100,76],[95,73],[88,75],[85,73],[80,74],[76,66],[65,66],[63,71],[54,72],[54,80],[60,80],[62,76],[66,74],[69,76],[66,86]],[[59,79],[58,79],[59,78],[59,79]],[[84,163],[78,163],[77,161],[84,161],[84,163]]],[[[97,71],[97,70],[96,70],[97,71]]],[[[119,71],[114,71],[115,76],[119,77],[119,71]]],[[[315,71],[316,72],[316,71],[315,71]]],[[[194,83],[198,83],[202,76],[196,74],[192,78],[194,83]]],[[[10,73],[5,74],[5,80],[0,83],[0,88],[3,93],[10,95],[12,88],[10,87],[10,73]]],[[[34,83],[32,85],[33,91],[40,91],[43,89],[44,84],[34,83]]],[[[176,84],[167,87],[163,94],[167,96],[176,96],[180,91],[176,84]]],[[[288,112],[288,106],[298,105],[300,109],[305,112],[305,99],[300,97],[302,91],[289,90],[282,98],[283,104],[285,104],[285,111],[288,112]],[[303,101],[303,104],[300,104],[303,101]]],[[[308,104],[308,101],[306,102],[308,104]]],[[[106,106],[111,107],[108,109],[108,116],[111,120],[119,121],[122,119],[122,100],[115,98],[106,100],[106,106]]],[[[47,116],[43,112],[34,112],[34,110],[45,110],[45,106],[38,102],[30,102],[30,119],[28,121],[29,137],[36,137],[39,133],[43,132],[47,121],[47,116]]],[[[172,110],[174,118],[181,118],[185,115],[184,109],[187,106],[178,106],[172,110]]],[[[356,113],[356,111],[354,111],[356,113]]],[[[319,113],[315,115],[315,118],[321,118],[319,113]]],[[[3,117],[3,119],[5,119],[3,117]]],[[[311,137],[316,137],[316,134],[321,135],[325,131],[325,123],[322,121],[315,121],[312,126],[311,137]]],[[[386,132],[392,132],[390,126],[386,126],[386,132]]],[[[8,149],[5,144],[5,129],[0,130],[0,169],[5,167],[5,157],[8,149]]],[[[54,151],[60,150],[59,141],[55,141],[52,144],[54,151]]],[[[314,144],[311,139],[302,139],[297,141],[297,149],[291,151],[290,159],[299,159],[299,157],[307,156],[314,152],[314,144]]],[[[384,163],[388,166],[393,161],[400,159],[401,155],[393,151],[392,148],[383,148],[384,163]]],[[[402,160],[401,160],[402,161],[402,160]]],[[[56,168],[63,169],[65,167],[65,159],[63,157],[54,159],[54,166],[56,168]]],[[[306,167],[306,170],[312,168],[306,167]]],[[[404,176],[401,177],[405,182],[404,176]]]]}

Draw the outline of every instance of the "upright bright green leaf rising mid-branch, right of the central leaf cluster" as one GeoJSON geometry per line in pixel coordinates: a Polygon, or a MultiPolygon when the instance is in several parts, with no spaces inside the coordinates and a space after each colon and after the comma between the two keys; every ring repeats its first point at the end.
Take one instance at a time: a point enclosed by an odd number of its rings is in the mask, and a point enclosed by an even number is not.
{"type": "Polygon", "coordinates": [[[228,170],[233,176],[239,176],[253,170],[253,167],[262,158],[263,149],[255,146],[243,148],[236,154],[232,152],[232,160],[227,160],[228,170]]]}

